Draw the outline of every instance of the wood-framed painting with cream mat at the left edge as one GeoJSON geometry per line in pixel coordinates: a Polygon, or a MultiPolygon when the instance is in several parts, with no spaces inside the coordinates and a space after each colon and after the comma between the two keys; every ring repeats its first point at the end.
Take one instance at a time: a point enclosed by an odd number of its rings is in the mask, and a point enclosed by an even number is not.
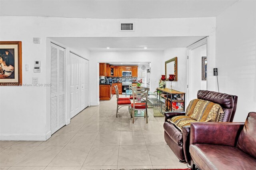
{"type": "Polygon", "coordinates": [[[22,85],[21,42],[0,41],[0,86],[22,85]]]}

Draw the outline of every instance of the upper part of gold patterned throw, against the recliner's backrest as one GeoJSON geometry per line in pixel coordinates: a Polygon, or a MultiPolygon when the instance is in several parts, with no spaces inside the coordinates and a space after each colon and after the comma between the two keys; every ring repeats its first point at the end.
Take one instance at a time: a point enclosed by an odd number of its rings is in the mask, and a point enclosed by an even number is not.
{"type": "Polygon", "coordinates": [[[186,116],[198,122],[218,122],[222,121],[224,111],[219,104],[194,99],[190,101],[186,109],[186,116]]]}

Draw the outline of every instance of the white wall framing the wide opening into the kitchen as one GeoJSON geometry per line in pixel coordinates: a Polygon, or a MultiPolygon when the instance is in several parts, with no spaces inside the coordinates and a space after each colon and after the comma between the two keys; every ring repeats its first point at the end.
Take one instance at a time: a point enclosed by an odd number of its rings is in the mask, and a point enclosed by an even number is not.
{"type": "Polygon", "coordinates": [[[161,78],[161,70],[164,51],[91,51],[90,77],[97,77],[97,81],[90,81],[92,105],[99,104],[99,63],[108,62],[150,62],[150,90],[158,87],[158,80],[161,78]],[[97,93],[96,93],[97,92],[97,93]],[[95,94],[96,93],[96,94],[95,94]],[[97,103],[94,103],[96,101],[97,103]]]}

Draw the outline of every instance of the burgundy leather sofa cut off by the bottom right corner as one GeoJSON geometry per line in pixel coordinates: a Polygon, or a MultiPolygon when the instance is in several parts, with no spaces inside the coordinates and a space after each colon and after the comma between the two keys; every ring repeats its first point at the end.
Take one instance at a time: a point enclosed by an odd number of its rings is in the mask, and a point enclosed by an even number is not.
{"type": "Polygon", "coordinates": [[[192,123],[191,168],[256,170],[256,112],[245,123],[192,123]]]}

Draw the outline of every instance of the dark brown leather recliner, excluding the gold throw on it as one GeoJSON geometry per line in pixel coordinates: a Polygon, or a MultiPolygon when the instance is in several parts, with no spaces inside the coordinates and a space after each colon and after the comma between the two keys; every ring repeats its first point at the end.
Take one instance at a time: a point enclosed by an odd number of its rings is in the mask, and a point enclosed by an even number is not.
{"type": "MultiPolygon", "coordinates": [[[[232,122],[236,112],[237,96],[218,93],[214,91],[199,90],[197,98],[218,103],[225,112],[223,122],[232,122]]],[[[190,126],[182,128],[182,132],[172,123],[168,122],[174,116],[185,115],[185,112],[166,112],[164,122],[164,139],[180,162],[190,164],[189,140],[190,126]]]]}

